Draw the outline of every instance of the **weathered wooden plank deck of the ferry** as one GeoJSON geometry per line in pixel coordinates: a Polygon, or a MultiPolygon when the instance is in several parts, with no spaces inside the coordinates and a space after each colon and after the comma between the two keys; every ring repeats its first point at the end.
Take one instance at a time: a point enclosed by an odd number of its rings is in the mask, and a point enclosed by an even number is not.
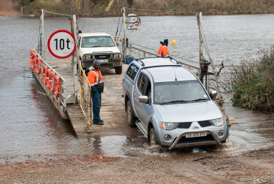
{"type": "MultiPolygon", "coordinates": [[[[73,67],[71,62],[48,62],[64,79],[66,79],[67,93],[73,93],[73,67]]],[[[68,116],[73,130],[77,137],[98,136],[98,135],[137,135],[140,131],[129,127],[126,122],[125,105],[122,98],[122,80],[127,65],[123,65],[123,73],[116,75],[114,70],[101,69],[105,89],[102,94],[102,105],[100,116],[103,120],[103,126],[94,125],[90,127],[90,133],[87,131],[86,116],[78,104],[68,104],[66,107],[66,116],[68,116]]],[[[36,75],[36,73],[34,73],[36,75]]],[[[39,77],[38,82],[45,90],[45,86],[39,77]]],[[[58,107],[58,101],[49,96],[53,106],[58,107]],[[54,105],[55,104],[55,105],[54,105]]],[[[60,109],[57,109],[60,111],[60,109]]]]}

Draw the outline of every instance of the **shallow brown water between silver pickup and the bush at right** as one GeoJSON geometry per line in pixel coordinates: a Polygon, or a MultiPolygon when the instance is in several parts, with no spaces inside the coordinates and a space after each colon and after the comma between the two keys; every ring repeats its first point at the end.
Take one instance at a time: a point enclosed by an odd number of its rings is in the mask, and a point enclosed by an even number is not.
{"type": "Polygon", "coordinates": [[[230,103],[225,105],[225,109],[238,122],[230,127],[228,140],[239,144],[239,150],[273,145],[274,121],[268,120],[269,112],[232,107],[230,103]]]}

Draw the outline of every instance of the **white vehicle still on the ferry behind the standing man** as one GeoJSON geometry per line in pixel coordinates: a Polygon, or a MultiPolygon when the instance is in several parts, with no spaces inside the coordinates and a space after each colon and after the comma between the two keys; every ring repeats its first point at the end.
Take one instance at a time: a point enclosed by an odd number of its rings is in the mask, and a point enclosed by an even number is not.
{"type": "Polygon", "coordinates": [[[110,34],[79,34],[79,57],[83,68],[99,60],[101,68],[114,68],[116,74],[122,73],[122,54],[110,34]]]}

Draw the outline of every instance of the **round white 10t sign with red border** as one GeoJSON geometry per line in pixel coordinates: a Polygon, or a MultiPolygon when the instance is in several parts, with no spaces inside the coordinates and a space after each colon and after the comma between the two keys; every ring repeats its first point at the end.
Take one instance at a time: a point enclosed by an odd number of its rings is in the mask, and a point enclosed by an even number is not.
{"type": "Polygon", "coordinates": [[[69,31],[58,30],[49,37],[47,47],[51,55],[64,59],[70,57],[75,52],[75,38],[69,31]]]}

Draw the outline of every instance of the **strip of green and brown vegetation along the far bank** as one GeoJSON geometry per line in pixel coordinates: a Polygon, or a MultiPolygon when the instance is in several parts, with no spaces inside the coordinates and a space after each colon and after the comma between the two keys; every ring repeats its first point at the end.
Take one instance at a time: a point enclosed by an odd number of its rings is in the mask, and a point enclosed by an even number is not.
{"type": "Polygon", "coordinates": [[[105,12],[110,0],[21,0],[24,13],[37,13],[39,8],[60,14],[77,16],[121,16],[121,8],[134,8],[126,12],[146,15],[203,14],[266,14],[274,13],[274,0],[114,0],[109,12],[105,12]],[[32,2],[34,1],[34,2],[32,2]],[[143,10],[136,10],[143,9],[143,10]],[[162,11],[147,11],[162,10],[162,11]],[[175,12],[171,12],[175,11],[175,12]]]}

